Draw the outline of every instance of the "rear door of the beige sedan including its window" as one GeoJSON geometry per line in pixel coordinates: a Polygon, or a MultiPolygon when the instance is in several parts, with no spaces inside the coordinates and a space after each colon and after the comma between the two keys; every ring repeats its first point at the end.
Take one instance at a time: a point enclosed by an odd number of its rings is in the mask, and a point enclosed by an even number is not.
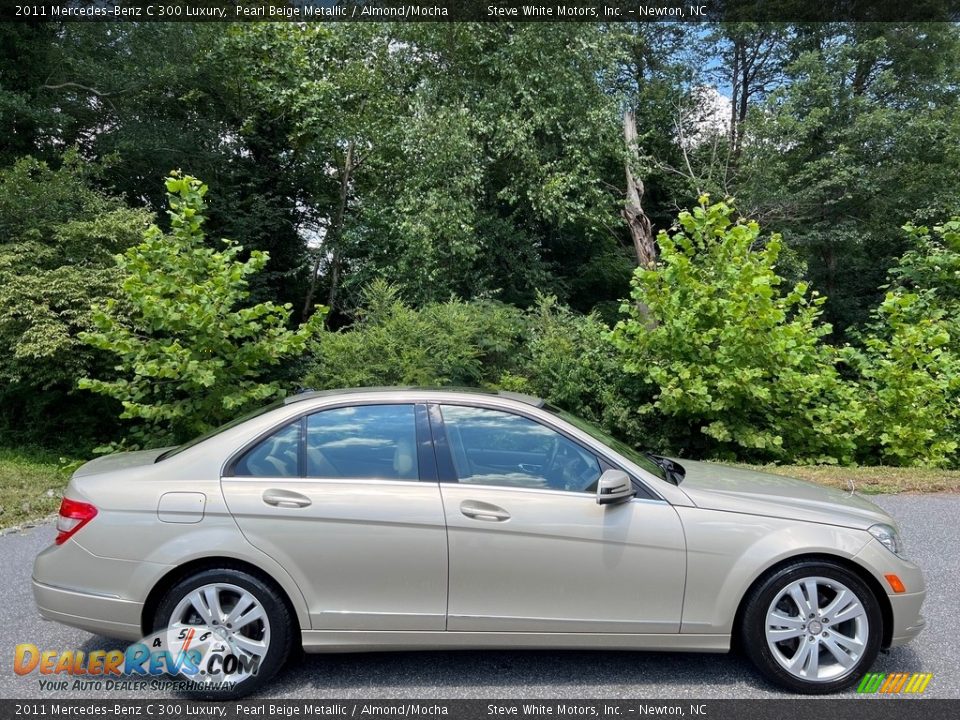
{"type": "Polygon", "coordinates": [[[447,539],[424,406],[305,415],[222,478],[241,531],[279,561],[314,630],[443,630],[447,539]]]}

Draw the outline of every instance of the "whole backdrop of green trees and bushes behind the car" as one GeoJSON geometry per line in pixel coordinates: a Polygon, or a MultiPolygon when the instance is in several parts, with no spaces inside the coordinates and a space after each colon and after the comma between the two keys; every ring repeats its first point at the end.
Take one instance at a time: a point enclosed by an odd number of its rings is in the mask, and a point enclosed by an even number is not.
{"type": "Polygon", "coordinates": [[[951,23],[0,25],[0,445],[457,384],[956,465],[958,73],[951,23]]]}

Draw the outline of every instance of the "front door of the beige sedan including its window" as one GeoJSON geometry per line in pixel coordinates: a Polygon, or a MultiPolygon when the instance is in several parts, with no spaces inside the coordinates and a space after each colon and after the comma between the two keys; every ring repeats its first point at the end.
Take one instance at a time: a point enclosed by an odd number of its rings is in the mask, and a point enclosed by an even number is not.
{"type": "Polygon", "coordinates": [[[686,553],[672,506],[598,505],[601,462],[539,420],[439,411],[438,451],[449,447],[456,475],[441,478],[448,630],[679,632],[686,553]]]}

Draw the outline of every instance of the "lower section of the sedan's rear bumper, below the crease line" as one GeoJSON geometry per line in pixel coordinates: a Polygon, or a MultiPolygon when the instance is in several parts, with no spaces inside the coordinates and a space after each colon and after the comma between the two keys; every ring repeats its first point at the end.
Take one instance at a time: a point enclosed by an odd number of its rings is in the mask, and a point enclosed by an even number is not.
{"type": "Polygon", "coordinates": [[[33,580],[33,598],[45,620],[122,640],[139,640],[143,604],[106,595],[66,590],[33,580]]]}

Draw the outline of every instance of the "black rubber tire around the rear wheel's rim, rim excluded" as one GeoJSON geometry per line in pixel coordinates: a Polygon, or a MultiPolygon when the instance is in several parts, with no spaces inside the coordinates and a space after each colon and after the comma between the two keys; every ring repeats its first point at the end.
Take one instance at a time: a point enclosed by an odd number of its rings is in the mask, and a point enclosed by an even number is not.
{"type": "Polygon", "coordinates": [[[292,645],[290,612],[277,591],[258,577],[242,570],[202,570],[180,580],[163,596],[153,617],[153,632],[166,629],[177,604],[193,590],[204,585],[228,583],[253,594],[261,604],[270,622],[270,647],[260,663],[257,674],[236,684],[230,690],[186,690],[195,698],[229,700],[244,697],[262,688],[283,667],[292,645]]]}

